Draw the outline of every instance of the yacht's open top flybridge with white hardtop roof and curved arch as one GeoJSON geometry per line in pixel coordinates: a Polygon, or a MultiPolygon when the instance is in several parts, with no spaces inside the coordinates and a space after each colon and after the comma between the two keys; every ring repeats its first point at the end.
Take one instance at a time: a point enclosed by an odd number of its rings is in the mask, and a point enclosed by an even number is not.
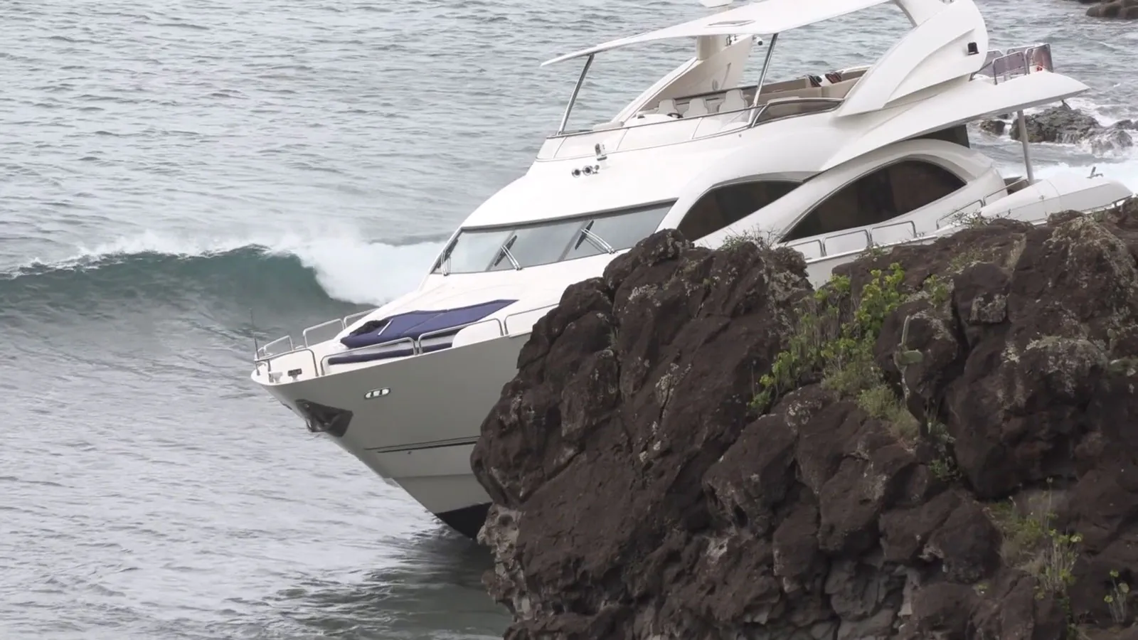
{"type": "MultiPolygon", "coordinates": [[[[762,122],[764,117],[780,120],[787,114],[802,115],[826,110],[833,110],[835,117],[843,117],[876,112],[898,104],[899,100],[918,91],[953,80],[971,77],[983,65],[981,54],[988,49],[988,31],[973,2],[762,0],[733,9],[726,9],[724,0],[704,3],[709,5],[718,5],[720,10],[677,25],[610,40],[543,63],[544,66],[585,58],[584,68],[566,105],[561,123],[551,138],[620,130],[622,138],[618,142],[620,149],[644,148],[645,145],[675,143],[749,129],[762,122]],[[899,14],[904,15],[912,28],[880,60],[872,65],[855,67],[859,73],[858,77],[843,74],[841,71],[833,72],[834,77],[831,77],[830,73],[822,77],[820,74],[826,69],[816,69],[817,75],[810,73],[805,75],[805,80],[811,82],[803,87],[766,83],[772,55],[782,32],[887,2],[892,2],[900,9],[899,14]],[[769,34],[769,42],[766,46],[759,81],[753,85],[743,87],[742,73],[751,48],[756,42],[761,43],[758,38],[760,34],[769,34]],[[597,54],[640,43],[688,38],[695,40],[695,56],[658,80],[609,122],[593,125],[591,130],[567,129],[577,97],[597,54]],[[855,80],[857,80],[856,85],[855,80]],[[794,101],[793,106],[783,104],[791,99],[794,101]],[[674,105],[678,101],[683,101],[683,105],[674,105]],[[772,108],[765,107],[767,102],[770,102],[772,108]],[[676,110],[674,106],[686,109],[676,110]],[[776,106],[777,108],[774,108],[776,106]],[[643,125],[674,122],[676,118],[684,118],[686,122],[674,123],[669,126],[668,136],[661,137],[657,128],[651,128],[651,132],[641,131],[643,125]],[[701,122],[693,122],[696,118],[701,122]],[[636,130],[635,133],[633,129],[636,130]],[[679,129],[685,131],[691,129],[691,131],[686,131],[685,138],[681,136],[684,132],[679,129]],[[673,133],[685,139],[676,139],[673,133]],[[645,140],[638,141],[641,138],[645,140]],[[646,140],[649,138],[652,139],[651,142],[646,140]],[[665,138],[667,140],[663,140],[665,138]]],[[[794,82],[797,81],[791,84],[794,82]]],[[[588,143],[589,150],[593,150],[597,142],[613,151],[620,150],[603,140],[592,140],[588,143]]],[[[582,155],[575,143],[559,141],[555,147],[543,147],[538,159],[582,155]]]]}

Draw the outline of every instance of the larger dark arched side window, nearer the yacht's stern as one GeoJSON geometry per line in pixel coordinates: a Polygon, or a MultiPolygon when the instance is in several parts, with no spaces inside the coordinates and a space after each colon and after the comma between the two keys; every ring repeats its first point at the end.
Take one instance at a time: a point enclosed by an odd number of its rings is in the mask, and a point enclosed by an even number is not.
{"type": "Polygon", "coordinates": [[[877,224],[937,202],[965,186],[947,169],[906,159],[842,187],[814,207],[782,241],[877,224]]]}

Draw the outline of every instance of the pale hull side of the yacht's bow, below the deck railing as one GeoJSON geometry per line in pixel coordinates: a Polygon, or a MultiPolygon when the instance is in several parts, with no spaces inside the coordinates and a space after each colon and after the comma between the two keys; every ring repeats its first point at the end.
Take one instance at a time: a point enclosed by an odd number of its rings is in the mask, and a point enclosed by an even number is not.
{"type": "Polygon", "coordinates": [[[503,336],[297,381],[254,380],[311,430],[476,538],[490,499],[471,473],[470,454],[502,386],[517,374],[528,337],[503,336]]]}

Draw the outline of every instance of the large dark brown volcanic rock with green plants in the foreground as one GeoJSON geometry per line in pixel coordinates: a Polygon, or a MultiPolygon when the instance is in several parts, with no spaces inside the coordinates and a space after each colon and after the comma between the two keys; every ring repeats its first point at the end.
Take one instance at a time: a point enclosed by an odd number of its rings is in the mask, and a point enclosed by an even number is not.
{"type": "Polygon", "coordinates": [[[790,249],[645,239],[483,424],[506,638],[1132,637],[1136,256],[1133,203],[818,292],[790,249]]]}

